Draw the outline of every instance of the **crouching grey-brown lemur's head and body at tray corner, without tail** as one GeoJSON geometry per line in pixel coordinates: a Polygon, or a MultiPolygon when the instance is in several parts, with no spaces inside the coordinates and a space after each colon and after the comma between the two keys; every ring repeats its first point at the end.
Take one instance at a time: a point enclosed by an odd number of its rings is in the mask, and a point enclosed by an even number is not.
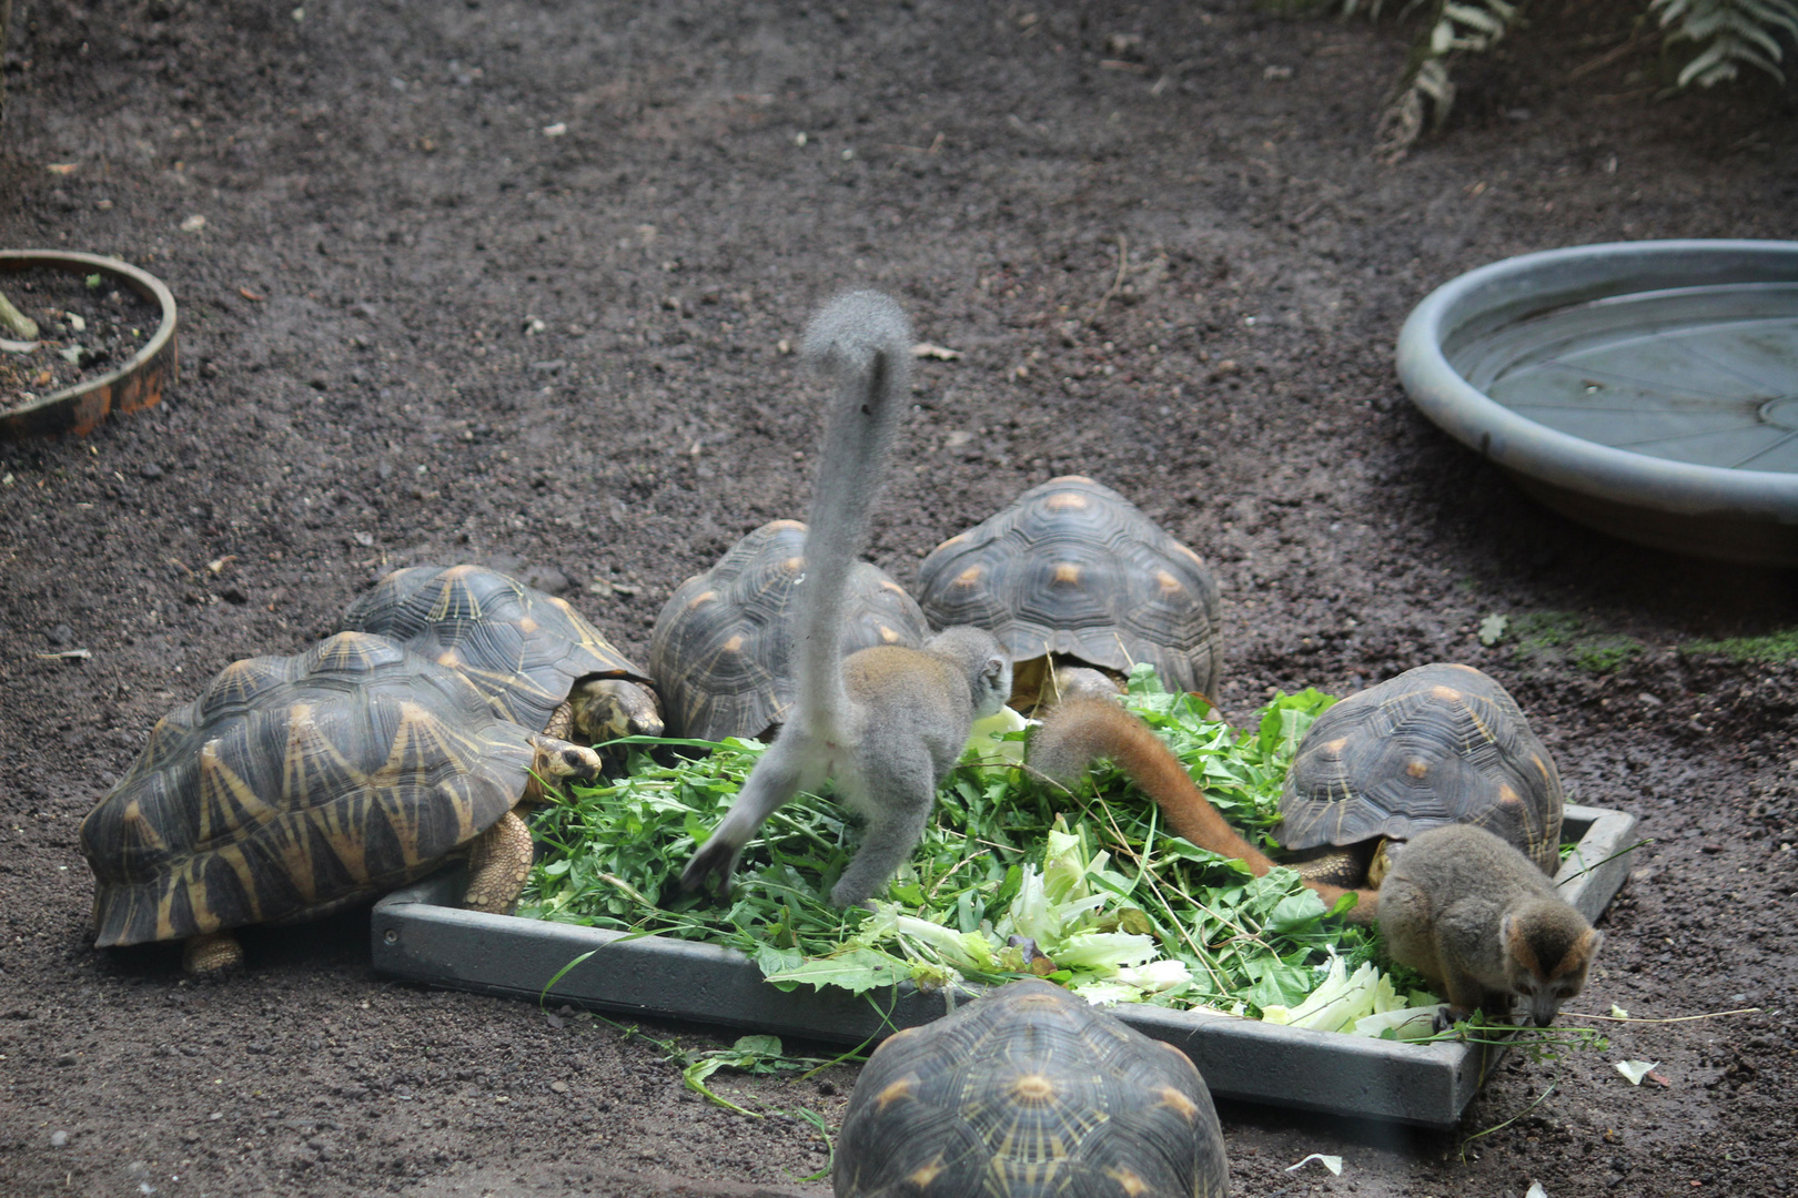
{"type": "Polygon", "coordinates": [[[1447,990],[1438,1031],[1474,1008],[1509,1018],[1512,995],[1546,1027],[1586,984],[1604,941],[1543,871],[1485,828],[1411,837],[1379,887],[1386,952],[1447,990]]]}

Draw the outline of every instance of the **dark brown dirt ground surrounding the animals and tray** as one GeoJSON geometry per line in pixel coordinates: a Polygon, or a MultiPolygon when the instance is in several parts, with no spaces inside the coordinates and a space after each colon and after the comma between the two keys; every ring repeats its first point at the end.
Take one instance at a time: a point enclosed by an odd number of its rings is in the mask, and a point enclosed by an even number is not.
{"type": "MultiPolygon", "coordinates": [[[[1388,165],[1404,36],[1248,0],[297,4],[14,13],[0,244],[167,280],[182,381],[0,445],[0,1191],[823,1193],[793,1114],[698,1101],[575,1013],[378,977],[365,912],[250,932],[221,982],[95,952],[76,824],[164,711],[392,566],[525,571],[642,657],[681,578],[804,514],[818,392],[784,347],[852,284],[962,352],[921,363],[877,564],[910,582],[1084,472],[1217,569],[1230,715],[1491,670],[1577,799],[1654,839],[1575,1008],[1758,1008],[1568,1018],[1609,1051],[1514,1060],[1458,1133],[1226,1105],[1235,1193],[1798,1184],[1798,668],[1681,648],[1798,625],[1793,578],[1539,510],[1392,372],[1406,311],[1482,262],[1798,235],[1793,90],[1658,102],[1647,43],[1573,79],[1642,5],[1546,0],[1388,165]],[[1487,648],[1489,614],[1564,634],[1487,648]],[[1286,1171],[1314,1151],[1341,1176],[1286,1171]]],[[[725,1088],[836,1121],[850,1085],[725,1088]]]]}

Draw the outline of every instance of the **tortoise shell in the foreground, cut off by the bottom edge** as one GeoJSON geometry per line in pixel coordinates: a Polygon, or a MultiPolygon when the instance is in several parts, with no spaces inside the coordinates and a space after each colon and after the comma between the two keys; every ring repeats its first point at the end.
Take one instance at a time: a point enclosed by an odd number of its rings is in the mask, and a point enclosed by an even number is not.
{"type": "Polygon", "coordinates": [[[838,1198],[1224,1198],[1230,1169],[1185,1053],[1028,979],[876,1049],[831,1182],[838,1198]]]}

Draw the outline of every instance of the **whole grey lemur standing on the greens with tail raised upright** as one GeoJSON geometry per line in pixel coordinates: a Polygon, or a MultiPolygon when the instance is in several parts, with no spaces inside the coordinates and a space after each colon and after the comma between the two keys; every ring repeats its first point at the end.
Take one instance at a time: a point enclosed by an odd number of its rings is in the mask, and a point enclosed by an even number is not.
{"type": "Polygon", "coordinates": [[[984,629],[944,629],[924,648],[881,645],[841,656],[849,571],[868,539],[881,469],[910,401],[912,325],[876,291],[831,300],[804,356],[836,375],[793,620],[795,702],[741,794],[698,848],[681,885],[717,878],[762,821],[800,790],[836,780],[865,823],[861,848],[831,891],[840,907],[874,894],[906,860],[976,717],[1010,695],[1010,656],[984,629]]]}

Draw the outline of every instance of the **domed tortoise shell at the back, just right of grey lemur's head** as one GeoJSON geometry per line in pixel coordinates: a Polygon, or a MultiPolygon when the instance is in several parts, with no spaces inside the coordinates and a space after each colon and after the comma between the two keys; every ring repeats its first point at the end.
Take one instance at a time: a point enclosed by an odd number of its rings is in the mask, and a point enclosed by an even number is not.
{"type": "MultiPolygon", "coordinates": [[[[1124,675],[1154,665],[1172,690],[1214,695],[1217,584],[1197,553],[1090,478],[1054,478],[949,537],[917,571],[933,627],[991,629],[1019,665],[1073,657],[1124,675]]],[[[1014,691],[1018,693],[1018,691],[1014,691]]]]}

